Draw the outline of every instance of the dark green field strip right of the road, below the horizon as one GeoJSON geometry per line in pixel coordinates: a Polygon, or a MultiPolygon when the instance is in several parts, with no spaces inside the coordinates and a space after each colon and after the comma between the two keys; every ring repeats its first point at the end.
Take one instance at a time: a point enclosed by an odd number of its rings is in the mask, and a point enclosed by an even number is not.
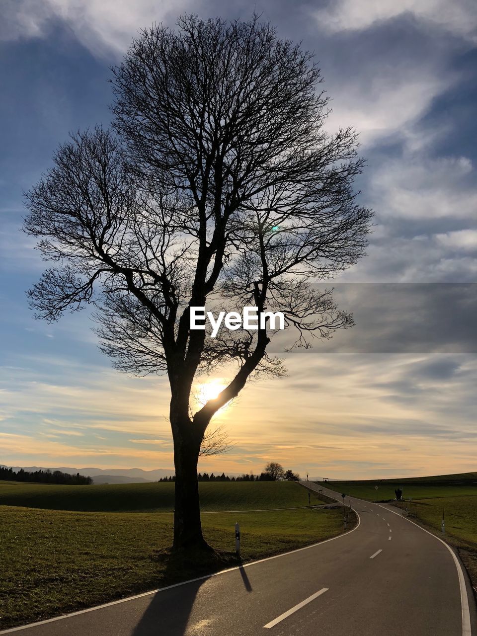
{"type": "Polygon", "coordinates": [[[394,490],[399,486],[405,499],[433,499],[434,497],[466,497],[477,495],[477,483],[436,483],[423,480],[422,483],[396,481],[329,481],[320,485],[343,492],[352,497],[368,501],[389,501],[396,499],[394,490]],[[376,486],[378,489],[376,490],[376,486]]]}

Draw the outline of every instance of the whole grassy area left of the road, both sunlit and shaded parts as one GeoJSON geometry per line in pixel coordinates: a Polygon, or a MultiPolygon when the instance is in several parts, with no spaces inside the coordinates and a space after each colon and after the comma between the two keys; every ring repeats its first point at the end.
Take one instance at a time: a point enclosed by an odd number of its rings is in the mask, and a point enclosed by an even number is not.
{"type": "MultiPolygon", "coordinates": [[[[307,506],[307,490],[296,483],[201,483],[204,512],[242,512],[204,514],[204,535],[219,559],[185,565],[170,555],[173,492],[169,483],[82,487],[0,482],[0,627],[235,565],[235,522],[242,534],[242,562],[342,532],[341,510],[245,512],[307,506]]],[[[312,504],[319,503],[312,495],[312,504]]]]}

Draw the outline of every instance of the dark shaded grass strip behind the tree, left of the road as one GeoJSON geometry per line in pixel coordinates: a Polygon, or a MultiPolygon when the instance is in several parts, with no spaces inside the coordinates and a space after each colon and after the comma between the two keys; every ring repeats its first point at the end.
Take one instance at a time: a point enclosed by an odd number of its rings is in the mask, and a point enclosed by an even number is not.
{"type": "MultiPolygon", "coordinates": [[[[199,484],[203,511],[307,506],[307,490],[289,481],[199,484]]],[[[312,501],[321,503],[315,495],[312,501]]],[[[0,505],[87,512],[171,512],[174,483],[66,486],[0,481],[0,505]]]]}

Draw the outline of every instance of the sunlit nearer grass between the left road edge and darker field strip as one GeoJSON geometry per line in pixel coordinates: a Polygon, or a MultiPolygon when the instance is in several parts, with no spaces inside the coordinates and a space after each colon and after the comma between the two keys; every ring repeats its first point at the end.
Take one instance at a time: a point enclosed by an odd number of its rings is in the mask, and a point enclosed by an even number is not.
{"type": "Polygon", "coordinates": [[[213,563],[186,565],[170,555],[172,521],[170,513],[0,506],[0,628],[78,611],[343,532],[337,509],[204,515],[204,536],[219,556],[213,563]],[[235,522],[240,523],[241,560],[233,552],[235,522]]]}

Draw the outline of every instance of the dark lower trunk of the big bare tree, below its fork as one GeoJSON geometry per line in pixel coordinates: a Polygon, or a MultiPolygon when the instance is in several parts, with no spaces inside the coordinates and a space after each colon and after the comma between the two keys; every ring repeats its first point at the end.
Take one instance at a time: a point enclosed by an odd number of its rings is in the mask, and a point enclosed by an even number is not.
{"type": "Polygon", "coordinates": [[[173,425],[176,501],[174,505],[174,545],[176,551],[211,551],[202,536],[197,481],[200,440],[193,439],[191,422],[173,425]]]}

